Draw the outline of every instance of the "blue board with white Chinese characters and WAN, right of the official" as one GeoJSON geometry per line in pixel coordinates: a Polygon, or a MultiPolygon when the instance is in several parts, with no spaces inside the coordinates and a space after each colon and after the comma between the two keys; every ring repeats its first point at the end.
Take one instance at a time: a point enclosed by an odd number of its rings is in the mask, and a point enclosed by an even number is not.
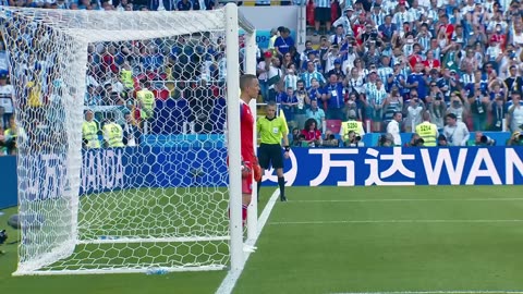
{"type": "Polygon", "coordinates": [[[293,148],[284,175],[288,186],[521,185],[522,159],[523,147],[293,148]]]}

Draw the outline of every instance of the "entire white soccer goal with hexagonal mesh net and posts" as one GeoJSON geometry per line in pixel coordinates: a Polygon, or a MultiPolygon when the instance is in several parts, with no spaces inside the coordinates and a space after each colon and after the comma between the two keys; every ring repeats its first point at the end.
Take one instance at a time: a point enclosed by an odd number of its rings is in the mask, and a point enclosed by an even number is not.
{"type": "Polygon", "coordinates": [[[238,8],[0,19],[19,130],[14,274],[241,268],[239,76],[256,45],[238,8]]]}

